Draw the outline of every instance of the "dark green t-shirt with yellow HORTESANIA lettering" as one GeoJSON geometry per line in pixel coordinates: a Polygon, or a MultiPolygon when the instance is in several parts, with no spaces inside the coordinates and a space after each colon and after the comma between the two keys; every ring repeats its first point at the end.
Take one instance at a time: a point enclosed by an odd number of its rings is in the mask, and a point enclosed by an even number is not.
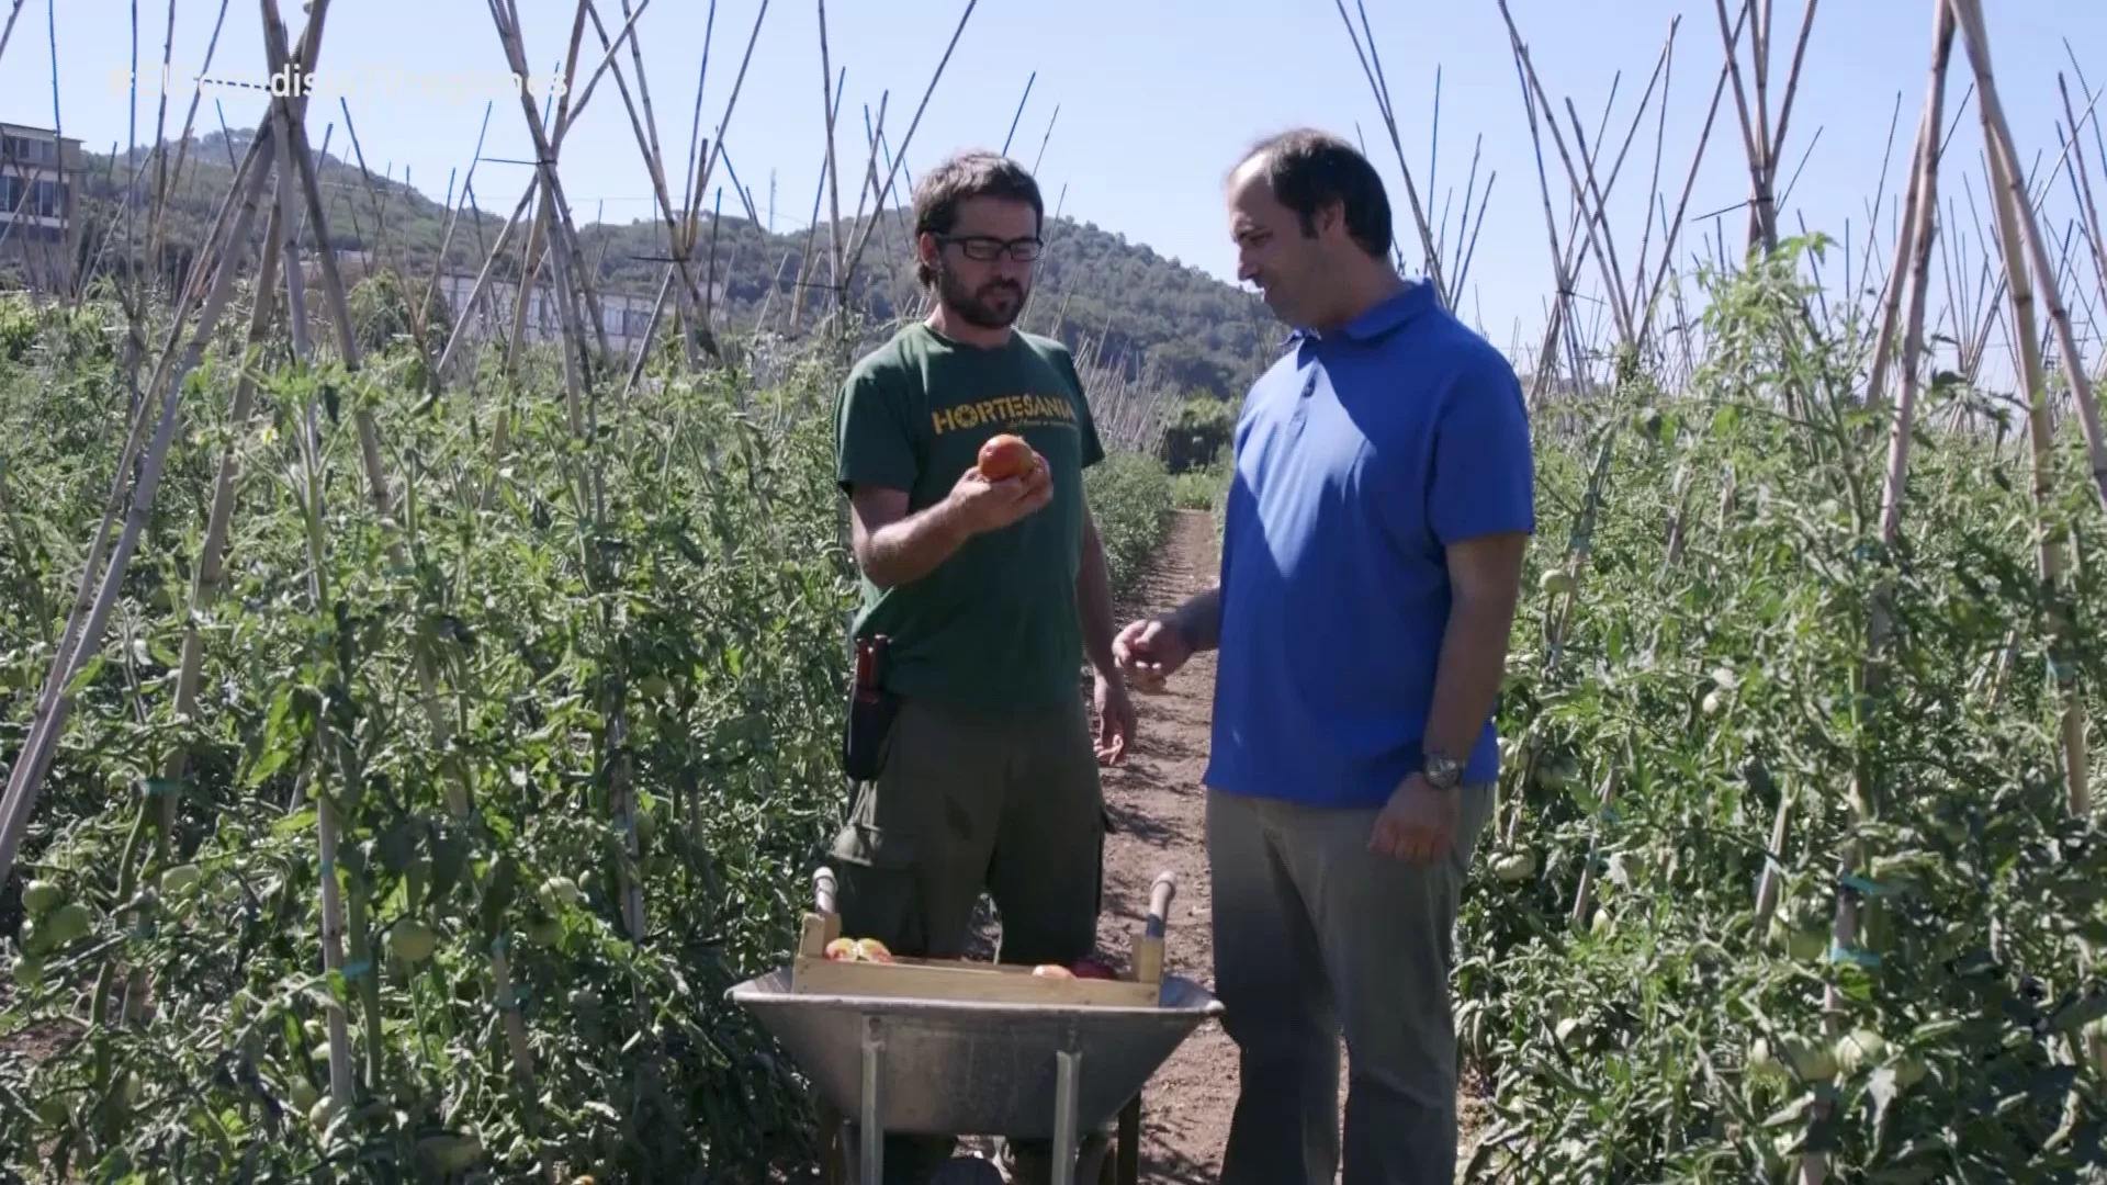
{"type": "Polygon", "coordinates": [[[887,635],[885,683],[902,696],[1013,711],[1079,694],[1083,470],[1104,447],[1066,346],[1013,331],[988,350],[925,323],[902,329],[843,382],[836,479],[843,491],[904,489],[912,514],[942,502],[997,432],[1039,449],[1054,500],[969,538],[921,580],[864,580],[855,637],[887,635]]]}

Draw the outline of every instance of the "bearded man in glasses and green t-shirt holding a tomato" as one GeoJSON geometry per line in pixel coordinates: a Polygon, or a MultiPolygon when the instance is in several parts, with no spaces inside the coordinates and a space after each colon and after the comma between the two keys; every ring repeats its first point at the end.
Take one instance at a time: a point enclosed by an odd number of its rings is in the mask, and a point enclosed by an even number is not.
{"type": "MultiPolygon", "coordinates": [[[[917,276],[936,295],[855,363],[836,407],[864,605],[898,696],[877,778],[834,839],[843,934],[959,957],[980,892],[1005,964],[1096,947],[1104,799],[1134,704],[1112,662],[1104,548],[1083,470],[1104,460],[1068,350],[1011,327],[1045,205],[1013,160],[969,152],[914,192],[917,276]],[[1022,436],[1043,464],[988,481],[980,447],[1022,436]],[[1096,671],[1098,727],[1081,696],[1096,671]]],[[[885,1179],[921,1185],[952,1143],[887,1139],[885,1179]]],[[[1018,1179],[1043,1147],[1018,1143],[1018,1179]]]]}

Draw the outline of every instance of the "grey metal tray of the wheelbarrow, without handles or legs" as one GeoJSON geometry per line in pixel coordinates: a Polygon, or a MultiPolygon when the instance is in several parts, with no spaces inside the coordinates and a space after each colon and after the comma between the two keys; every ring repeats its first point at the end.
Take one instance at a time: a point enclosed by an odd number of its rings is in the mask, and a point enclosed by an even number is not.
{"type": "MultiPolygon", "coordinates": [[[[874,1092],[879,1130],[902,1134],[1056,1139],[1066,1120],[1058,1115],[1062,1061],[1075,1075],[1070,1134],[1096,1130],[1193,1029],[1222,1012],[1214,995],[1171,974],[1146,985],[1155,1002],[1098,1004],[1087,999],[1089,980],[1062,980],[1081,999],[986,999],[794,989],[792,970],[761,974],[729,995],[784,1044],[830,1107],[864,1115],[864,1096],[874,1092]],[[874,1056],[866,1058],[866,1046],[874,1056]]],[[[868,972],[864,983],[908,970],[858,968],[868,972]]],[[[984,983],[1016,978],[990,972],[984,983]]]]}

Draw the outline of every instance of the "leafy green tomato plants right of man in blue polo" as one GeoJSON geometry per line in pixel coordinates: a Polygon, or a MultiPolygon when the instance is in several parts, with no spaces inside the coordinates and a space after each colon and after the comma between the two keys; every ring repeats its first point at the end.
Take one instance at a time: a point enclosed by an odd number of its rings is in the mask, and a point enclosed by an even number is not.
{"type": "MultiPolygon", "coordinates": [[[[1532,588],[1610,464],[1578,590],[1525,601],[1502,692],[1502,805],[1458,943],[1460,1040],[1494,1107],[1473,1181],[1797,1181],[1799,1151],[1835,1181],[2096,1168],[2082,1029],[2107,999],[2084,947],[2107,940],[2107,843],[2065,808],[2027,460],[1919,432],[1884,548],[1886,432],[1799,314],[1799,247],[1715,280],[1692,390],[1631,375],[1576,409],[1578,447],[1542,451],[1532,588]],[[1869,862],[1839,877],[1848,843],[1869,862]],[[1833,945],[1837,905],[1858,930],[1833,945]],[[1829,1035],[1825,989],[1858,1040],[1829,1035]]],[[[2096,531],[2073,434],[2050,512],[2096,531]]],[[[2099,622],[2101,592],[2088,574],[2063,597],[2099,622]]],[[[2096,717],[2099,645],[2067,662],[2096,717]]]]}

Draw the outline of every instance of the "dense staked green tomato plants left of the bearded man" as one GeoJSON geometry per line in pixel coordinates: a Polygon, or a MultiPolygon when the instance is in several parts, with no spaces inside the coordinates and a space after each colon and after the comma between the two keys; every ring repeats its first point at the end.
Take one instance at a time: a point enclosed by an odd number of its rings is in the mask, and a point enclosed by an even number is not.
{"type": "MultiPolygon", "coordinates": [[[[4,327],[23,316],[0,306],[4,327]]],[[[122,447],[107,342],[36,323],[0,363],[0,761],[27,736],[122,447]]],[[[761,392],[653,375],[600,403],[588,449],[548,350],[516,394],[478,403],[394,386],[405,344],[371,344],[360,375],[265,350],[242,424],[225,346],[188,386],[188,430],[34,814],[27,883],[0,894],[0,1177],[51,1160],[95,1181],[430,1181],[455,1149],[487,1179],[767,1179],[809,1155],[809,1094],[725,991],[788,959],[845,810],[839,365],[792,363],[761,392]],[[499,455],[501,407],[516,413],[499,455]],[[386,517],[360,409],[398,496],[386,517]],[[230,447],[228,567],[190,616],[230,447]],[[188,622],[204,677],[179,715],[188,622]],[[346,907],[335,972],[324,879],[346,907]],[[101,1023],[80,1025],[84,997],[101,1023]],[[337,1111],[331,1006],[356,1075],[337,1111]],[[15,1052],[42,1031],[80,1040],[15,1052]]],[[[1169,477],[1115,453],[1089,493],[1123,586],[1169,477]]]]}

